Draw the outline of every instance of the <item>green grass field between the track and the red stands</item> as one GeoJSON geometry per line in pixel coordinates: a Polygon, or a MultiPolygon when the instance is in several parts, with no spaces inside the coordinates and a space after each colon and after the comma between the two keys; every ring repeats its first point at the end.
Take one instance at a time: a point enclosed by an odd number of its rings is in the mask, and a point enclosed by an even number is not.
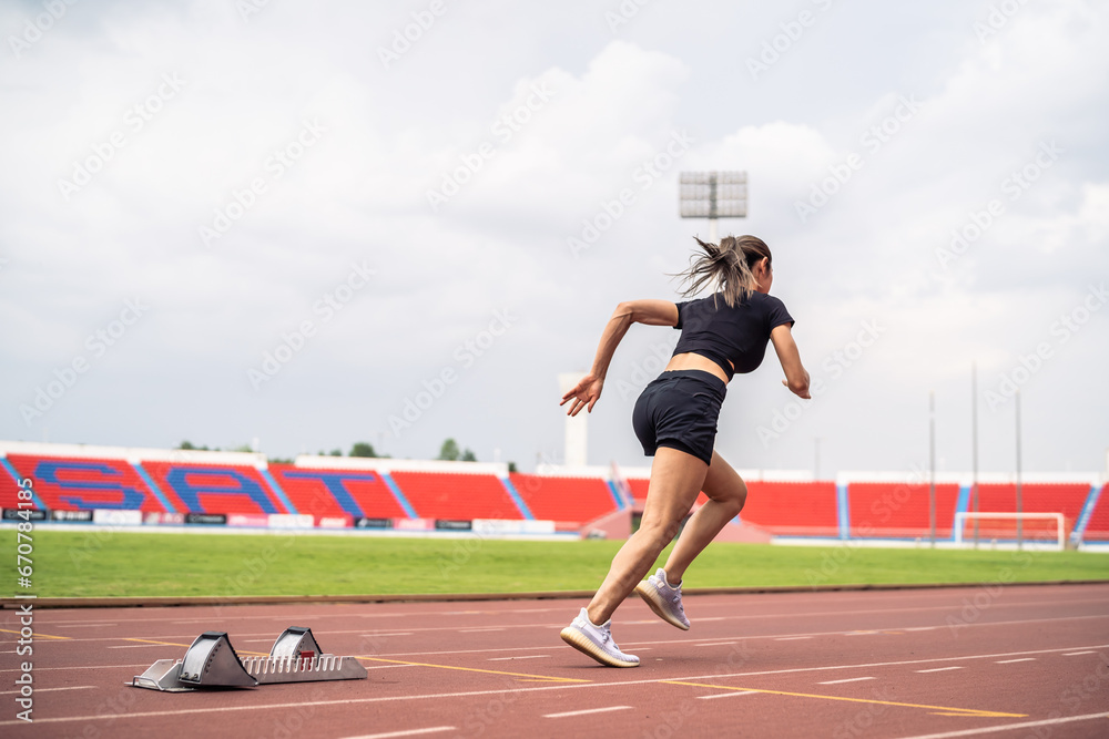
{"type": "MultiPolygon", "coordinates": [[[[0,532],[0,542],[11,553],[3,574],[14,587],[16,532],[0,532]]],[[[588,591],[600,584],[620,544],[38,531],[33,587],[20,592],[103,597],[588,591]]],[[[1060,579],[1109,579],[1109,556],[712,544],[686,573],[685,586],[1060,579]]]]}

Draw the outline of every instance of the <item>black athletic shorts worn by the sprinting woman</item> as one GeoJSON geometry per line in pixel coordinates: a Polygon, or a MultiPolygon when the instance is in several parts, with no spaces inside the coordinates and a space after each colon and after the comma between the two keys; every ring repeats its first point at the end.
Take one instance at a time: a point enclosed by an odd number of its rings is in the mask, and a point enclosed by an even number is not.
{"type": "Polygon", "coordinates": [[[712,463],[716,418],[728,386],[703,370],[672,370],[653,380],[635,401],[631,424],[654,456],[659,447],[670,447],[712,463]]]}

